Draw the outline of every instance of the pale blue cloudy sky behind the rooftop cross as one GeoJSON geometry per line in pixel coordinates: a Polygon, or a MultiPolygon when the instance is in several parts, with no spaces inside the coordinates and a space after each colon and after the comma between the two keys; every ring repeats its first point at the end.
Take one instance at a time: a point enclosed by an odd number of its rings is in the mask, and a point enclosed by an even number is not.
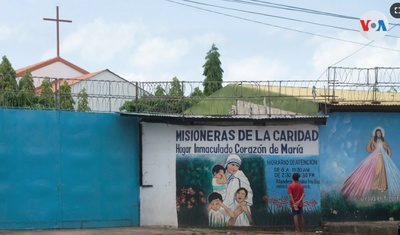
{"type": "MultiPolygon", "coordinates": [[[[377,47],[365,47],[348,57],[363,45],[347,41],[370,43],[359,32],[358,20],[233,0],[195,0],[295,19],[289,21],[173,1],[233,17],[166,0],[0,0],[1,56],[6,55],[14,69],[55,57],[56,23],[43,18],[55,18],[56,6],[59,6],[60,19],[72,20],[72,23],[60,23],[61,57],[89,72],[109,69],[131,81],[171,81],[174,76],[180,81],[203,81],[202,66],[213,43],[221,54],[224,81],[325,79],[324,71],[332,65],[400,67],[400,26],[388,32],[399,38],[384,37],[371,43],[377,47]],[[299,21],[349,28],[356,32],[299,21]],[[336,64],[338,61],[341,62],[336,64]],[[324,75],[321,77],[321,74],[324,75]]],[[[357,18],[367,11],[376,10],[383,13],[389,23],[400,23],[400,19],[389,13],[395,1],[269,2],[357,18]]]]}

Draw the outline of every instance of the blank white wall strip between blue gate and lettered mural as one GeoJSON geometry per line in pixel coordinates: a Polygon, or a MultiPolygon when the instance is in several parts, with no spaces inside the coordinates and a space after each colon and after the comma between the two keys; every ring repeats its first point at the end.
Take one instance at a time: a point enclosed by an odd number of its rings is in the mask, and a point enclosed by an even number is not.
{"type": "Polygon", "coordinates": [[[143,184],[153,187],[140,189],[141,226],[178,227],[175,130],[173,125],[142,123],[143,184]]]}

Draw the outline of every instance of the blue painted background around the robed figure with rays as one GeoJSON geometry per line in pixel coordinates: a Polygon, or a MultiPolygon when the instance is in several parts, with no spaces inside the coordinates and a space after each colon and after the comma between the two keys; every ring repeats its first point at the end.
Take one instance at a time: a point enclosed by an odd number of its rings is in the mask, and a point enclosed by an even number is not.
{"type": "MultiPolygon", "coordinates": [[[[385,166],[387,179],[400,181],[400,114],[381,112],[343,112],[329,115],[327,124],[320,126],[320,172],[322,217],[326,221],[388,220],[400,217],[400,193],[391,195],[393,188],[386,190],[364,187],[361,197],[343,193],[344,182],[359,166],[366,164],[371,153],[367,144],[379,128],[390,147],[392,168],[385,166]]],[[[385,164],[389,162],[385,160],[385,164]]],[[[375,170],[375,166],[371,168],[375,170]]],[[[359,174],[357,174],[359,175],[359,174]]],[[[355,178],[355,177],[354,177],[355,178]]],[[[359,182],[365,180],[365,174],[359,182]]]]}

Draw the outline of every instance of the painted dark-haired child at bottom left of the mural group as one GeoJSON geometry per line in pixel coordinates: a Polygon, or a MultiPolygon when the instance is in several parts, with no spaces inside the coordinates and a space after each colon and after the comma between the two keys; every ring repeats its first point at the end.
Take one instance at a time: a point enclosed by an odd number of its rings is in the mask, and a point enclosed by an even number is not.
{"type": "Polygon", "coordinates": [[[210,227],[225,227],[228,225],[229,218],[234,217],[234,213],[222,201],[221,194],[213,192],[208,196],[208,222],[210,227]]]}

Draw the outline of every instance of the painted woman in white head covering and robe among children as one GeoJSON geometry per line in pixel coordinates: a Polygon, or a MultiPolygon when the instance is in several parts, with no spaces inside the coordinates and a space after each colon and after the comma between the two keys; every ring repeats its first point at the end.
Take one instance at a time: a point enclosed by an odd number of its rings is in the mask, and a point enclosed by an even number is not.
{"type": "Polygon", "coordinates": [[[225,162],[227,188],[226,197],[224,199],[225,205],[232,208],[235,203],[236,193],[239,188],[247,190],[245,202],[247,211],[250,213],[250,206],[253,205],[253,190],[251,189],[250,182],[243,171],[239,170],[242,164],[242,159],[237,154],[230,154],[225,162]]]}

